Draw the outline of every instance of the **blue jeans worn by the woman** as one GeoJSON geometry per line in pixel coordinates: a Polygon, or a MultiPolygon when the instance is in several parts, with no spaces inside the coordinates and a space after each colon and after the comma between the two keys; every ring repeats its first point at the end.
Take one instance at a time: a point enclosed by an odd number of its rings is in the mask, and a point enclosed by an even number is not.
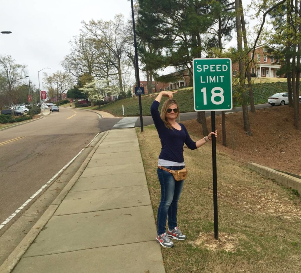
{"type": "MultiPolygon", "coordinates": [[[[171,167],[164,166],[170,170],[182,170],[185,166],[171,167]]],[[[161,185],[161,201],[157,215],[158,235],[166,232],[166,218],[168,216],[168,228],[174,229],[177,224],[178,201],[182,192],[184,180],[176,181],[171,173],[157,169],[158,178],[161,185]]]]}

